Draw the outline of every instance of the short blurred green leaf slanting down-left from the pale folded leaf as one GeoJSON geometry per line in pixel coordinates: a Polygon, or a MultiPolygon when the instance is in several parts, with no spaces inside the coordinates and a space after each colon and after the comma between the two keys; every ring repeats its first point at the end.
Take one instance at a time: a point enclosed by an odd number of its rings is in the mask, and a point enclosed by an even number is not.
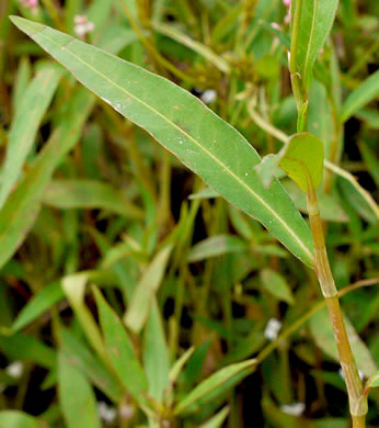
{"type": "Polygon", "coordinates": [[[60,282],[53,282],[45,286],[21,309],[12,325],[12,330],[18,331],[25,327],[64,297],[65,293],[61,290],[60,282]]]}

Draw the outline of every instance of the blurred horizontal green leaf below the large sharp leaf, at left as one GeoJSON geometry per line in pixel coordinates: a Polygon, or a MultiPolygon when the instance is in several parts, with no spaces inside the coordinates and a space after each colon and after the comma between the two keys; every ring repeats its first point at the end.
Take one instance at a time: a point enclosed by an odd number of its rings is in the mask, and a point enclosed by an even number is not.
{"type": "Polygon", "coordinates": [[[61,210],[103,209],[127,218],[142,218],[142,211],[112,185],[94,180],[54,180],[44,193],[44,203],[61,210]]]}

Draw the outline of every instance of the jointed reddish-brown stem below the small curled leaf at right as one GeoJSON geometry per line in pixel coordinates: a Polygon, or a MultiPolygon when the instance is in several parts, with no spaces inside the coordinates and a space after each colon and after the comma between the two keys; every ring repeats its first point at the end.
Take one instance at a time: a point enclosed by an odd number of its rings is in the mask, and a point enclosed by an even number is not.
{"type": "Polygon", "coordinates": [[[365,427],[367,401],[363,395],[364,387],[352,352],[340,307],[337,290],[329,264],[318,200],[310,179],[308,180],[307,205],[314,244],[315,273],[320,282],[322,294],[325,297],[329,315],[332,322],[333,335],[337,345],[341,367],[347,387],[353,428],[361,428],[365,427]]]}

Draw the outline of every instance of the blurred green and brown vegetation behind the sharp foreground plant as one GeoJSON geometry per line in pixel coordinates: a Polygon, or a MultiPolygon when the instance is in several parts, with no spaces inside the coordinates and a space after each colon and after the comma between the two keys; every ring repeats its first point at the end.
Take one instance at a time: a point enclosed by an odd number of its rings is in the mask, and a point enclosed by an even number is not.
{"type": "MultiPolygon", "coordinates": [[[[365,379],[379,359],[378,12],[341,1],[309,104],[343,169],[325,169],[320,205],[365,379]]],[[[10,14],[172,80],[261,157],[297,126],[282,0],[1,1],[0,427],[348,427],[314,272],[10,14]]]]}

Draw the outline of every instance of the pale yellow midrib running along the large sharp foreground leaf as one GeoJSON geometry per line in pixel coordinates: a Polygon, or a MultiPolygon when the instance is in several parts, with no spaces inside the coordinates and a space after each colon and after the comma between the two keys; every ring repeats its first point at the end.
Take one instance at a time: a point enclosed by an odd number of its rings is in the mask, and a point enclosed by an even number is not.
{"type": "MultiPolygon", "coordinates": [[[[177,126],[175,123],[173,123],[172,121],[170,121],[168,117],[165,117],[163,114],[161,114],[159,111],[157,111],[156,109],[153,109],[151,105],[147,104],[145,101],[138,99],[137,97],[135,97],[134,94],[131,94],[130,92],[128,92],[125,88],[120,87],[119,85],[117,85],[116,82],[112,81],[111,79],[108,79],[105,75],[103,75],[102,72],[100,72],[97,69],[95,69],[94,67],[90,66],[88,63],[83,61],[79,56],[77,56],[76,54],[73,54],[71,50],[67,49],[68,45],[73,43],[73,42],[79,42],[77,41],[76,38],[71,37],[71,41],[70,43],[65,47],[65,46],[61,46],[59,45],[57,42],[55,42],[55,40],[48,37],[46,34],[43,34],[43,32],[46,30],[47,27],[44,26],[43,29],[38,30],[37,32],[33,33],[33,36],[37,33],[41,34],[41,36],[47,38],[49,42],[51,42],[53,44],[55,44],[57,47],[61,48],[61,49],[65,49],[67,53],[69,53],[73,58],[76,58],[77,60],[79,60],[80,63],[82,63],[85,67],[90,68],[93,70],[94,74],[97,74],[99,76],[103,77],[106,81],[108,81],[113,87],[119,89],[122,92],[124,92],[127,97],[136,100],[137,102],[139,102],[140,104],[142,104],[145,108],[147,108],[148,110],[151,110],[154,114],[157,114],[158,116],[160,116],[161,119],[163,119],[163,121],[168,122],[172,127],[176,128],[180,133],[182,133],[185,137],[187,137],[190,140],[192,140],[200,150],[203,150],[205,154],[207,154],[216,164],[218,164],[222,169],[225,169],[226,172],[228,172],[236,181],[238,181],[243,188],[245,188],[259,202],[261,202],[261,204],[267,210],[269,211],[273,216],[275,218],[277,218],[279,221],[279,223],[283,224],[284,228],[287,229],[287,232],[289,233],[289,235],[291,235],[295,240],[299,244],[299,246],[303,249],[303,251],[308,255],[308,257],[310,258],[310,260],[312,261],[313,260],[313,256],[312,254],[309,251],[309,249],[305,246],[305,244],[302,243],[302,240],[298,237],[298,235],[290,228],[288,227],[287,223],[276,214],[275,211],[273,211],[273,209],[266,204],[266,202],[259,195],[256,194],[246,183],[244,183],[244,181],[242,181],[233,171],[229,170],[227,165],[225,165],[221,160],[219,160],[217,157],[215,157],[210,151],[208,151],[206,148],[204,148],[195,138],[193,138],[190,134],[187,134],[184,129],[182,129],[180,126],[177,126]]],[[[79,42],[80,43],[80,42],[79,42]]],[[[100,50],[100,52],[104,52],[104,50],[101,50],[99,49],[97,47],[95,46],[92,46],[94,49],[96,50],[100,50]]],[[[54,55],[53,55],[54,56],[54,55]]],[[[145,70],[147,71],[147,70],[145,70]]],[[[149,71],[147,71],[149,72],[149,71]]],[[[79,79],[78,79],[79,80],[79,79]]],[[[179,87],[180,88],[180,87],[179,87]]],[[[209,110],[213,114],[215,114],[211,110],[209,110]]],[[[215,114],[216,115],[216,114],[215,114]]]]}

